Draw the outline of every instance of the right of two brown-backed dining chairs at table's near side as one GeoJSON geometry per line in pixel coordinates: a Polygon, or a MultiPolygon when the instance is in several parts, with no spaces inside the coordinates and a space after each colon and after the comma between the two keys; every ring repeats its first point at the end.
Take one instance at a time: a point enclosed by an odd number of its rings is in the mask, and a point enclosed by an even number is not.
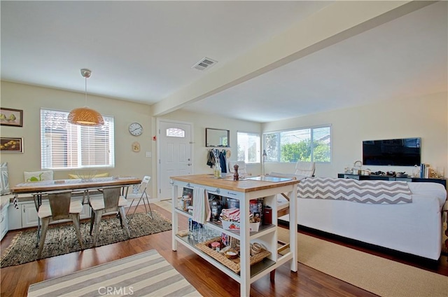
{"type": "Polygon", "coordinates": [[[103,193],[103,199],[91,199],[89,204],[92,207],[92,215],[90,216],[90,235],[94,227],[93,245],[97,246],[97,237],[99,234],[99,226],[104,214],[114,212],[118,214],[120,225],[125,228],[128,237],[131,237],[129,227],[127,226],[125,206],[127,200],[120,195],[121,187],[106,187],[100,190],[103,193]]]}

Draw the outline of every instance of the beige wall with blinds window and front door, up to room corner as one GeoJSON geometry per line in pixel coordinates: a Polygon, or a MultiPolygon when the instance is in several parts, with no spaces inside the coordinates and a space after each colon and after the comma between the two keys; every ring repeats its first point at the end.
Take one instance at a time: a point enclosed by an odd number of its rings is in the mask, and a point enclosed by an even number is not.
{"type": "MultiPolygon", "coordinates": [[[[57,109],[70,111],[79,106],[84,106],[84,94],[40,88],[32,85],[9,83],[1,81],[1,106],[23,110],[23,127],[0,126],[2,137],[23,137],[25,152],[22,154],[0,153],[1,162],[8,162],[10,186],[23,181],[24,171],[41,170],[41,139],[40,139],[40,109],[57,109]]],[[[87,105],[100,113],[113,116],[115,119],[115,148],[116,167],[112,170],[98,170],[98,172],[110,172],[111,175],[133,175],[143,177],[151,175],[151,187],[148,193],[157,197],[157,141],[153,141],[156,134],[157,119],[151,116],[151,106],[125,102],[122,100],[87,96],[87,105]],[[132,136],[127,127],[130,123],[139,122],[144,127],[144,133],[140,137],[132,136]],[[139,141],[141,151],[134,153],[131,144],[139,141]],[[151,152],[151,157],[146,157],[146,152],[151,152]]],[[[259,123],[244,120],[230,120],[207,114],[174,111],[162,118],[180,120],[193,123],[193,170],[195,173],[209,173],[207,167],[207,148],[205,148],[205,128],[214,127],[230,130],[230,150],[232,159],[235,160],[237,130],[245,132],[260,132],[259,123]]],[[[260,173],[260,165],[252,165],[251,172],[260,173]]],[[[70,170],[55,171],[55,179],[66,179],[70,170]]]]}

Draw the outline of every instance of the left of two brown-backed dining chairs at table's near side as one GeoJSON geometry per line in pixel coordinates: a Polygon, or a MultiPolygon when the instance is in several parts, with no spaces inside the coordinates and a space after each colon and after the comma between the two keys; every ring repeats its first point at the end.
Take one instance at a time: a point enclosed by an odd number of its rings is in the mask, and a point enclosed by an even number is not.
{"type": "Polygon", "coordinates": [[[42,204],[37,212],[38,218],[42,221],[37,258],[41,258],[43,244],[45,243],[45,236],[47,235],[48,224],[52,221],[62,219],[71,219],[71,221],[73,221],[73,227],[75,228],[79,245],[81,249],[84,249],[79,223],[80,212],[83,210],[83,205],[81,202],[71,200],[71,191],[52,192],[44,195],[48,195],[49,203],[42,204]]]}

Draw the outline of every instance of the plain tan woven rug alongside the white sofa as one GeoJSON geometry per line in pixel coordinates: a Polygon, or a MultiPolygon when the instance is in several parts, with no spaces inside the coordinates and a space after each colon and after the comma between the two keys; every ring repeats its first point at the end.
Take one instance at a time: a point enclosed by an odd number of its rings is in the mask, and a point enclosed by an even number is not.
{"type": "MultiPolygon", "coordinates": [[[[289,231],[278,228],[279,240],[289,231]]],[[[298,262],[379,296],[448,296],[448,277],[298,233],[298,262]]]]}

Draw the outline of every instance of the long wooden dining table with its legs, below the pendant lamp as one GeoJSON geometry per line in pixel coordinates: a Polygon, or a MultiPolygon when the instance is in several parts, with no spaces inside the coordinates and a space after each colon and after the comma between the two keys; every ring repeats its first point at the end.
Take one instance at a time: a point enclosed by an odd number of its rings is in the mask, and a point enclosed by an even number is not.
{"type": "MultiPolygon", "coordinates": [[[[10,192],[14,195],[13,203],[17,205],[19,194],[31,194],[34,199],[34,205],[38,212],[42,205],[42,196],[47,193],[58,191],[73,191],[83,193],[83,204],[90,199],[90,191],[99,191],[102,188],[110,186],[123,187],[123,195],[127,197],[129,187],[140,184],[141,179],[137,177],[99,177],[93,179],[56,179],[51,181],[29,181],[18,184],[10,188],[10,192]]],[[[37,239],[39,240],[41,230],[41,220],[37,223],[37,239]]],[[[37,240],[37,242],[38,242],[37,240]]]]}

